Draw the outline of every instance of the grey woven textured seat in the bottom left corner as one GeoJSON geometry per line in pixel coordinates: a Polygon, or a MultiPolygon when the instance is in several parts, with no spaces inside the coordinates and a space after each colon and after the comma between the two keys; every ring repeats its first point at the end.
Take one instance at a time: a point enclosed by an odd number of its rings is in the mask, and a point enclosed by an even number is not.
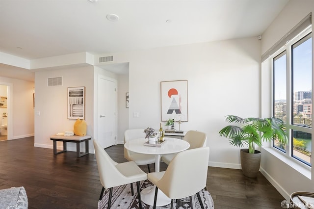
{"type": "Polygon", "coordinates": [[[28,200],[25,188],[12,187],[0,190],[0,208],[1,209],[27,209],[28,200]]]}

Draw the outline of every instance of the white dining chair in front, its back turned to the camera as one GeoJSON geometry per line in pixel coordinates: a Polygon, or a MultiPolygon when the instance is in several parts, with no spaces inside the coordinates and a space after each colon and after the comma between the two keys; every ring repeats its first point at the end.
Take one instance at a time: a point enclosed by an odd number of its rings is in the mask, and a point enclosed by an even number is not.
{"type": "Polygon", "coordinates": [[[209,147],[195,148],[178,153],[166,171],[147,174],[147,179],[156,185],[153,209],[156,209],[158,189],[171,199],[171,209],[175,199],[206,189],[208,162],[209,147]]]}

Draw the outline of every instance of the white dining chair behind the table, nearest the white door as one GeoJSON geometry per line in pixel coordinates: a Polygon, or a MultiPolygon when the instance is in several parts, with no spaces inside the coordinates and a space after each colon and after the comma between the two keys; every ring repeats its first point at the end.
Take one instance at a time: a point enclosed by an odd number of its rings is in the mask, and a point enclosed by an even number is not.
{"type": "MultiPolygon", "coordinates": [[[[124,143],[136,138],[145,138],[144,129],[129,129],[124,132],[124,143]]],[[[134,153],[126,148],[124,148],[124,157],[137,165],[147,165],[149,173],[151,172],[149,164],[155,163],[154,155],[134,153]]]]}

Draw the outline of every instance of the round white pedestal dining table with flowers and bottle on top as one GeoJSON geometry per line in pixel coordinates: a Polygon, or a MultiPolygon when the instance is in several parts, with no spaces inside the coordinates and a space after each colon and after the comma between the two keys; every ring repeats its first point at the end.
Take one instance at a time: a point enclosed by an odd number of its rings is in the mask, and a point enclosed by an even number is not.
{"type": "MultiPolygon", "coordinates": [[[[187,150],[190,144],[187,141],[177,138],[165,137],[165,142],[161,147],[145,146],[148,140],[145,138],[132,139],[124,144],[124,147],[132,152],[155,155],[155,172],[159,172],[160,155],[179,153],[187,150]]],[[[155,186],[146,187],[141,191],[142,201],[150,206],[154,205],[155,186]]],[[[157,193],[157,206],[168,205],[171,199],[162,191],[157,193]]]]}

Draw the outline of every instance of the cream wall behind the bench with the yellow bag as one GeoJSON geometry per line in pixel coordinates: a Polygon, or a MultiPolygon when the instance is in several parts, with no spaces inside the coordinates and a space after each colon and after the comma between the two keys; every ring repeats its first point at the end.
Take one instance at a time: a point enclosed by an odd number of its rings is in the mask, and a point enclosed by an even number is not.
{"type": "MultiPolygon", "coordinates": [[[[57,132],[73,131],[76,120],[67,119],[68,87],[85,86],[85,121],[87,134],[93,136],[94,67],[35,72],[35,147],[52,149],[50,136],[57,132]],[[48,78],[62,77],[62,86],[47,86],[48,78]]],[[[92,141],[89,142],[93,152],[92,141]]],[[[62,142],[57,146],[62,147],[62,142]]],[[[82,150],[84,148],[82,143],[82,150]]],[[[68,150],[76,151],[75,143],[68,150]]]]}

